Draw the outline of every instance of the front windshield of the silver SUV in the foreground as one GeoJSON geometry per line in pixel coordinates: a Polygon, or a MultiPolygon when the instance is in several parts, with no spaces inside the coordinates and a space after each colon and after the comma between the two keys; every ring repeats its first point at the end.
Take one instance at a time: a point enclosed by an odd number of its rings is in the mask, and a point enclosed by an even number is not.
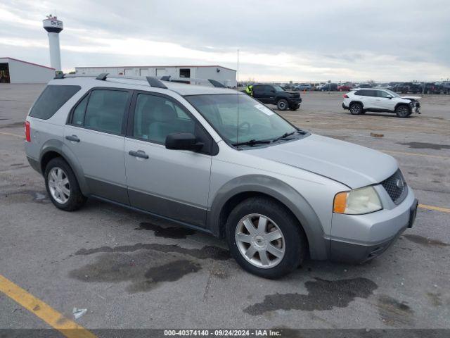
{"type": "Polygon", "coordinates": [[[297,130],[280,115],[248,95],[191,95],[185,96],[185,99],[229,144],[276,139],[297,130]]]}

